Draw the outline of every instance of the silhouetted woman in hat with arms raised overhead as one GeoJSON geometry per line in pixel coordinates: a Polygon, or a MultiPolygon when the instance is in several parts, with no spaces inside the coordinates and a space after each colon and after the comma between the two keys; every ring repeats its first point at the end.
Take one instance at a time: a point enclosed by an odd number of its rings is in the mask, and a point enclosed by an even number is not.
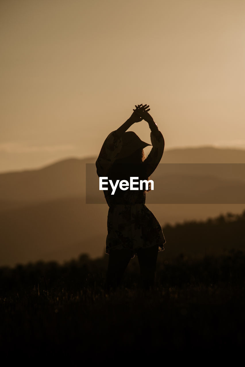
{"type": "MultiPolygon", "coordinates": [[[[148,180],[155,171],[163,155],[164,138],[148,113],[148,107],[142,103],[135,105],[129,119],[108,135],[96,160],[99,177],[108,177],[115,184],[117,179],[129,182],[130,177],[148,180]],[[147,158],[143,148],[151,144],[143,142],[133,131],[126,132],[132,124],[142,120],[148,122],[151,130],[152,149],[147,158]]],[[[146,191],[149,190],[117,188],[112,195],[110,185],[108,190],[104,190],[109,206],[107,290],[111,287],[116,289],[121,283],[123,273],[135,255],[138,257],[143,287],[149,289],[154,286],[157,254],[164,250],[166,240],[159,222],[145,205],[146,191]]]]}

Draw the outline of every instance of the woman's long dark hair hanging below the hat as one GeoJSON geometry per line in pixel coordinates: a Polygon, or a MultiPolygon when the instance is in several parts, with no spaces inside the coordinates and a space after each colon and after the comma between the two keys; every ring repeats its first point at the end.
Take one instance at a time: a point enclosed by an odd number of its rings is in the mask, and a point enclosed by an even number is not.
{"type": "MultiPolygon", "coordinates": [[[[113,183],[117,179],[130,181],[130,177],[139,177],[139,180],[148,180],[146,177],[142,163],[146,159],[144,150],[139,148],[135,150],[130,156],[116,159],[108,172],[108,179],[111,179],[113,183]]],[[[148,190],[141,190],[143,192],[150,191],[150,184],[148,190]]]]}

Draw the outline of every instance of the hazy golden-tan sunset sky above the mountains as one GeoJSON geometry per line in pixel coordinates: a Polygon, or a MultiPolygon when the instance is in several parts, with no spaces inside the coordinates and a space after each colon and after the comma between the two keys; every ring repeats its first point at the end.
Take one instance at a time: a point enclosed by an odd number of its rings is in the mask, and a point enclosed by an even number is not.
{"type": "MultiPolygon", "coordinates": [[[[244,14],[244,0],[1,0],[0,171],[97,156],[138,103],[165,149],[244,149],[244,14]]],[[[145,121],[129,130],[150,143],[145,121]]]]}

